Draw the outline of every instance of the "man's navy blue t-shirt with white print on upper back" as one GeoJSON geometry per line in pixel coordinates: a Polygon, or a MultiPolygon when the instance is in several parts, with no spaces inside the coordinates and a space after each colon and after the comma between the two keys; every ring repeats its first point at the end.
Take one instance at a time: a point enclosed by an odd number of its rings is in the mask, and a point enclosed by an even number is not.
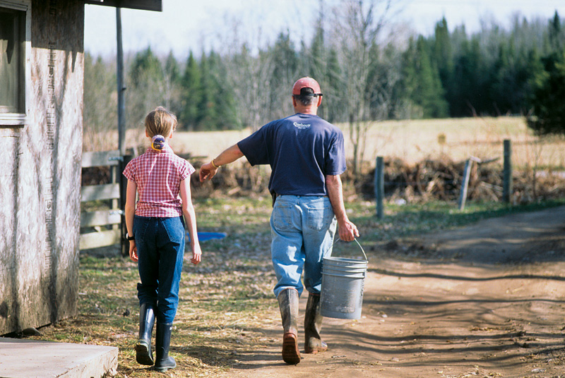
{"type": "Polygon", "coordinates": [[[267,123],[237,143],[249,163],[269,164],[269,190],[279,195],[328,195],[326,175],[345,172],[343,133],[311,114],[267,123]]]}

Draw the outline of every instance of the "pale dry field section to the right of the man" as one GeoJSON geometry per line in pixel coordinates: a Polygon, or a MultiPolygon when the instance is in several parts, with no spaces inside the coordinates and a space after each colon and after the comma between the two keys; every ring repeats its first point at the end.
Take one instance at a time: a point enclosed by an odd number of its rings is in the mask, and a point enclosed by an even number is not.
{"type": "MultiPolygon", "coordinates": [[[[345,130],[347,131],[347,130],[345,130]]],[[[503,141],[513,145],[516,167],[565,166],[563,138],[537,138],[522,117],[446,118],[416,121],[371,123],[367,131],[364,160],[377,156],[399,158],[409,164],[424,159],[448,157],[464,161],[469,157],[483,160],[503,157],[503,141]],[[444,138],[444,143],[439,140],[444,138]]],[[[352,151],[346,138],[346,150],[352,151]]]]}

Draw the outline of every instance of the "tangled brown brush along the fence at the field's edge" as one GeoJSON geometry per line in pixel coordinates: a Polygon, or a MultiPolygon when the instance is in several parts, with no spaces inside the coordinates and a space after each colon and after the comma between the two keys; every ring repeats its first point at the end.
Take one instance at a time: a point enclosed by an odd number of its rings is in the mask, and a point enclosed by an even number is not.
{"type": "MultiPolygon", "coordinates": [[[[196,173],[191,176],[194,197],[265,196],[268,193],[270,169],[267,166],[222,166],[212,181],[201,183],[198,170],[201,162],[193,161],[196,173]]],[[[400,159],[385,160],[384,190],[387,200],[426,202],[457,201],[463,183],[465,161],[426,159],[407,164],[400,159]]],[[[347,171],[342,180],[347,197],[374,198],[374,168],[364,167],[355,177],[347,171]]],[[[468,200],[499,201],[502,197],[503,170],[500,161],[472,163],[468,185],[468,200]]],[[[107,183],[107,167],[83,169],[83,185],[107,183]]],[[[565,197],[565,172],[515,169],[513,171],[513,203],[565,197]]]]}

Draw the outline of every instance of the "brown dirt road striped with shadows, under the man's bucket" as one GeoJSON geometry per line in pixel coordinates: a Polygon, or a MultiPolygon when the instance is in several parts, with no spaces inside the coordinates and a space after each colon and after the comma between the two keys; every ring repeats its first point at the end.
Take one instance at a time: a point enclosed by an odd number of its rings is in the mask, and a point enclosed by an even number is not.
{"type": "Polygon", "coordinates": [[[559,207],[377,248],[362,319],[326,318],[326,353],[286,365],[273,322],[225,377],[565,377],[564,326],[559,207]]]}

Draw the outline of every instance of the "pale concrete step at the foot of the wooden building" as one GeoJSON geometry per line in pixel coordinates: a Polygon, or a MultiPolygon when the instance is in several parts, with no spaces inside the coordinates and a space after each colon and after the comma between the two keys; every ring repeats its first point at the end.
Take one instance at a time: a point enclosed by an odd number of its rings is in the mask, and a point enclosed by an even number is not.
{"type": "Polygon", "coordinates": [[[118,348],[0,337],[2,378],[100,378],[115,375],[118,348]]]}

